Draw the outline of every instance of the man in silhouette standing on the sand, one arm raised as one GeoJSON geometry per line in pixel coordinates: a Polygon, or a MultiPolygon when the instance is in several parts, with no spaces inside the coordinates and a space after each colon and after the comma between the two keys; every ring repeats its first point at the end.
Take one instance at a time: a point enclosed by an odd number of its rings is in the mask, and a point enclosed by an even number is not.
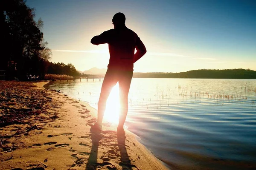
{"type": "Polygon", "coordinates": [[[114,29],[104,31],[91,40],[94,45],[108,43],[110,54],[108,70],[102,83],[98,102],[98,120],[92,128],[101,130],[108,96],[112,88],[119,82],[121,108],[117,132],[124,133],[123,125],[128,113],[128,93],[133,76],[134,62],[146,53],[146,48],[138,35],[125,26],[125,15],[123,13],[116,13],[112,22],[114,29]],[[137,50],[136,54],[134,54],[135,48],[137,50]]]}

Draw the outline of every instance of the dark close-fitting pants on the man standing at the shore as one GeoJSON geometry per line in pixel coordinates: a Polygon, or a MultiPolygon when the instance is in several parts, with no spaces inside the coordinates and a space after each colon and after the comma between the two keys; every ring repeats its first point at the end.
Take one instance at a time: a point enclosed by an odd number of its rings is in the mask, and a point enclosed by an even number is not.
{"type": "Polygon", "coordinates": [[[106,109],[106,102],[112,88],[119,83],[120,113],[119,126],[123,126],[128,113],[128,93],[133,71],[116,71],[108,69],[102,83],[98,103],[98,122],[101,123],[106,109]]]}

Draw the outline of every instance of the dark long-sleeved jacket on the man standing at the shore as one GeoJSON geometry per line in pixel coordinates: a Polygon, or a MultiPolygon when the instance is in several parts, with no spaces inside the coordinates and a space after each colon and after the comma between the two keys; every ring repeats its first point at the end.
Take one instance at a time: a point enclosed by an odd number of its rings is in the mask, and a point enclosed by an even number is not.
{"type": "Polygon", "coordinates": [[[138,35],[126,26],[110,29],[92,38],[94,45],[108,43],[109,69],[133,71],[134,62],[140,59],[146,48],[138,35]],[[134,54],[135,48],[137,50],[134,54]]]}

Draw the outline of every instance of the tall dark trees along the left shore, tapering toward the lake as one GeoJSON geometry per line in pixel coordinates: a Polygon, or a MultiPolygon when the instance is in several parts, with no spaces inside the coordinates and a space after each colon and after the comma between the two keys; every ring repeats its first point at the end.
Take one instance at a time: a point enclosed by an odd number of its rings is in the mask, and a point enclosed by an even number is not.
{"type": "Polygon", "coordinates": [[[41,18],[34,20],[35,9],[27,6],[25,0],[4,0],[1,6],[0,70],[6,79],[26,79],[28,74],[41,78],[47,73],[79,75],[71,63],[49,62],[52,52],[44,40],[44,23],[41,18]]]}

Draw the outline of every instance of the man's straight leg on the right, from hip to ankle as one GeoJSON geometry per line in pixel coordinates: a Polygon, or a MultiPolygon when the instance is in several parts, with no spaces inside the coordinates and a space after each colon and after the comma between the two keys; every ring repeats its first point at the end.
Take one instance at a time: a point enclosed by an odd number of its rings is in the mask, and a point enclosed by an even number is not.
{"type": "Polygon", "coordinates": [[[133,72],[125,71],[119,75],[119,99],[120,99],[120,113],[118,129],[123,130],[125,119],[128,113],[128,94],[131,85],[133,72]]]}

